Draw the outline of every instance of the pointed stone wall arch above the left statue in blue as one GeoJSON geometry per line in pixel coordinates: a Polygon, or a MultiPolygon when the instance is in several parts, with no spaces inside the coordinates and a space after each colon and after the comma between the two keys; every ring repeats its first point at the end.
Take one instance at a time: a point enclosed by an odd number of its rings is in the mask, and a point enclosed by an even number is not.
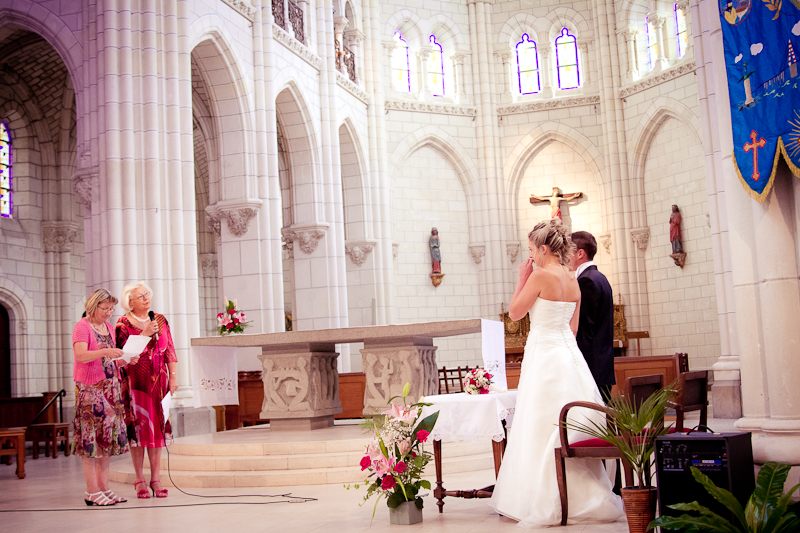
{"type": "Polygon", "coordinates": [[[397,145],[389,158],[392,176],[392,189],[398,170],[411,155],[423,146],[438,150],[453,165],[467,197],[467,216],[469,220],[470,242],[476,239],[476,206],[478,205],[478,168],[461,144],[439,126],[428,125],[408,134],[397,145]]]}

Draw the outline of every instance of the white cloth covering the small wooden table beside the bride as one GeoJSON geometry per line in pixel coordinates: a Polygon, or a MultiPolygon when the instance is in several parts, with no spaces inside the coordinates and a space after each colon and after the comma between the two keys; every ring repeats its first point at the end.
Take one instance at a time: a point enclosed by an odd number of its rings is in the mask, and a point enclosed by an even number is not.
{"type": "Polygon", "coordinates": [[[489,394],[437,394],[425,396],[420,402],[431,403],[423,408],[421,418],[439,411],[431,438],[445,441],[486,442],[502,441],[506,427],[511,427],[517,391],[489,394]]]}

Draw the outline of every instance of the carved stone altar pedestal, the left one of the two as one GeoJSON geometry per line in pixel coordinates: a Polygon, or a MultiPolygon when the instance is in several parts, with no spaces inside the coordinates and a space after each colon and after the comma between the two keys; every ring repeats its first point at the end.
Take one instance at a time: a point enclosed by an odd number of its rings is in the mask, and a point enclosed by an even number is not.
{"type": "Polygon", "coordinates": [[[338,357],[334,351],[262,352],[258,356],[264,382],[261,418],[268,418],[272,428],[316,429],[327,418],[331,424],[324,427],[332,425],[333,415],[342,412],[338,357]],[[308,422],[301,424],[303,419],[308,422]]]}

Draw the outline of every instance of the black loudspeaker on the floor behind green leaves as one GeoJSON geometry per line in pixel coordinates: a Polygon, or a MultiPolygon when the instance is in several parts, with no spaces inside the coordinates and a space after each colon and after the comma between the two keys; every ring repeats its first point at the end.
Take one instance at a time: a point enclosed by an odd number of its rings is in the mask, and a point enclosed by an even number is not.
{"type": "Polygon", "coordinates": [[[733,493],[744,506],[755,488],[750,433],[675,433],[656,439],[656,479],[661,516],[685,514],[685,511],[667,506],[696,501],[733,520],[732,513],[695,481],[691,472],[693,466],[716,486],[733,493]]]}

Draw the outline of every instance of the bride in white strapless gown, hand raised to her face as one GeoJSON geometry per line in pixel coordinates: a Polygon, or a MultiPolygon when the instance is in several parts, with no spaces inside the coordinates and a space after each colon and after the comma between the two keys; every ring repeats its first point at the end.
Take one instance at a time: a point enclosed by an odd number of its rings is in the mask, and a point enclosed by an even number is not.
{"type": "MultiPolygon", "coordinates": [[[[566,268],[573,248],[566,229],[560,219],[539,222],[528,241],[530,259],[519,267],[508,311],[513,320],[519,320],[530,310],[531,330],[522,360],[514,425],[490,505],[518,520],[520,526],[542,527],[561,523],[553,451],[560,445],[561,408],[575,401],[602,404],[602,399],[575,342],[581,291],[566,268]]],[[[597,422],[604,422],[602,413],[572,411],[580,421],[601,417],[597,422]]],[[[573,431],[568,434],[571,442],[588,438],[573,431]]],[[[566,475],[570,523],[614,522],[624,515],[599,459],[567,461],[566,475]]]]}

